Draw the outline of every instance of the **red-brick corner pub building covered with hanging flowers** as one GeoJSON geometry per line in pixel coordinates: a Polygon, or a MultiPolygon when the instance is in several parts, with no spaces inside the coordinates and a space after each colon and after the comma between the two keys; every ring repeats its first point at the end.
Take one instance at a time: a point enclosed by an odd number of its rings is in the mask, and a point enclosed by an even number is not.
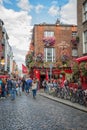
{"type": "Polygon", "coordinates": [[[71,68],[78,57],[77,26],[65,24],[36,24],[33,28],[26,65],[40,70],[39,77],[58,77],[60,68],[71,68]],[[52,68],[52,72],[50,69],[52,68]]]}

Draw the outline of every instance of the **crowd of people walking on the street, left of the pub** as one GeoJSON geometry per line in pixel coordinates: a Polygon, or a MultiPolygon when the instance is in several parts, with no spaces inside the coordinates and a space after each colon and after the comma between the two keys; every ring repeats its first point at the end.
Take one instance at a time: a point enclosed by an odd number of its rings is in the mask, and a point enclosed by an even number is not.
{"type": "Polygon", "coordinates": [[[33,98],[36,98],[36,92],[38,89],[38,80],[31,79],[29,76],[27,78],[9,77],[8,79],[0,79],[0,98],[5,99],[10,96],[11,100],[15,100],[16,96],[21,96],[22,92],[29,94],[32,90],[33,98]]]}

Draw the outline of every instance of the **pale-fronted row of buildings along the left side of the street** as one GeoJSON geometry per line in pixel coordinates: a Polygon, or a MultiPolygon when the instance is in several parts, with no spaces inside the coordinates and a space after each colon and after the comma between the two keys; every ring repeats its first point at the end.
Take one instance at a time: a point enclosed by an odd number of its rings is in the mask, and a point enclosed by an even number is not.
{"type": "Polygon", "coordinates": [[[4,22],[0,19],[0,75],[12,72],[13,51],[8,39],[4,22]]]}

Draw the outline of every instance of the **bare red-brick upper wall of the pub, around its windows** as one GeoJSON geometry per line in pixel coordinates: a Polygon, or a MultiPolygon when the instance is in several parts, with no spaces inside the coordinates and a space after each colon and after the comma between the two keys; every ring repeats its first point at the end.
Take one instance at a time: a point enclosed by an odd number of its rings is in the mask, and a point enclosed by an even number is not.
{"type": "Polygon", "coordinates": [[[44,53],[44,31],[54,31],[56,38],[55,47],[56,49],[56,60],[61,56],[60,44],[67,44],[65,49],[69,56],[71,57],[71,39],[72,39],[72,29],[77,30],[77,27],[73,26],[62,26],[62,25],[36,25],[34,26],[34,45],[35,45],[35,54],[40,52],[44,53]]]}

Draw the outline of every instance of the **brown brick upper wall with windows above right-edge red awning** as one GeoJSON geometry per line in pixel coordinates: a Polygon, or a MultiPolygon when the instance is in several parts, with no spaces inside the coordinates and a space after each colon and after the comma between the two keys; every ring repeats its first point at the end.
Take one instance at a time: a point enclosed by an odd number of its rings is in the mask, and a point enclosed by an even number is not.
{"type": "Polygon", "coordinates": [[[77,0],[78,54],[87,55],[87,0],[77,0]]]}

